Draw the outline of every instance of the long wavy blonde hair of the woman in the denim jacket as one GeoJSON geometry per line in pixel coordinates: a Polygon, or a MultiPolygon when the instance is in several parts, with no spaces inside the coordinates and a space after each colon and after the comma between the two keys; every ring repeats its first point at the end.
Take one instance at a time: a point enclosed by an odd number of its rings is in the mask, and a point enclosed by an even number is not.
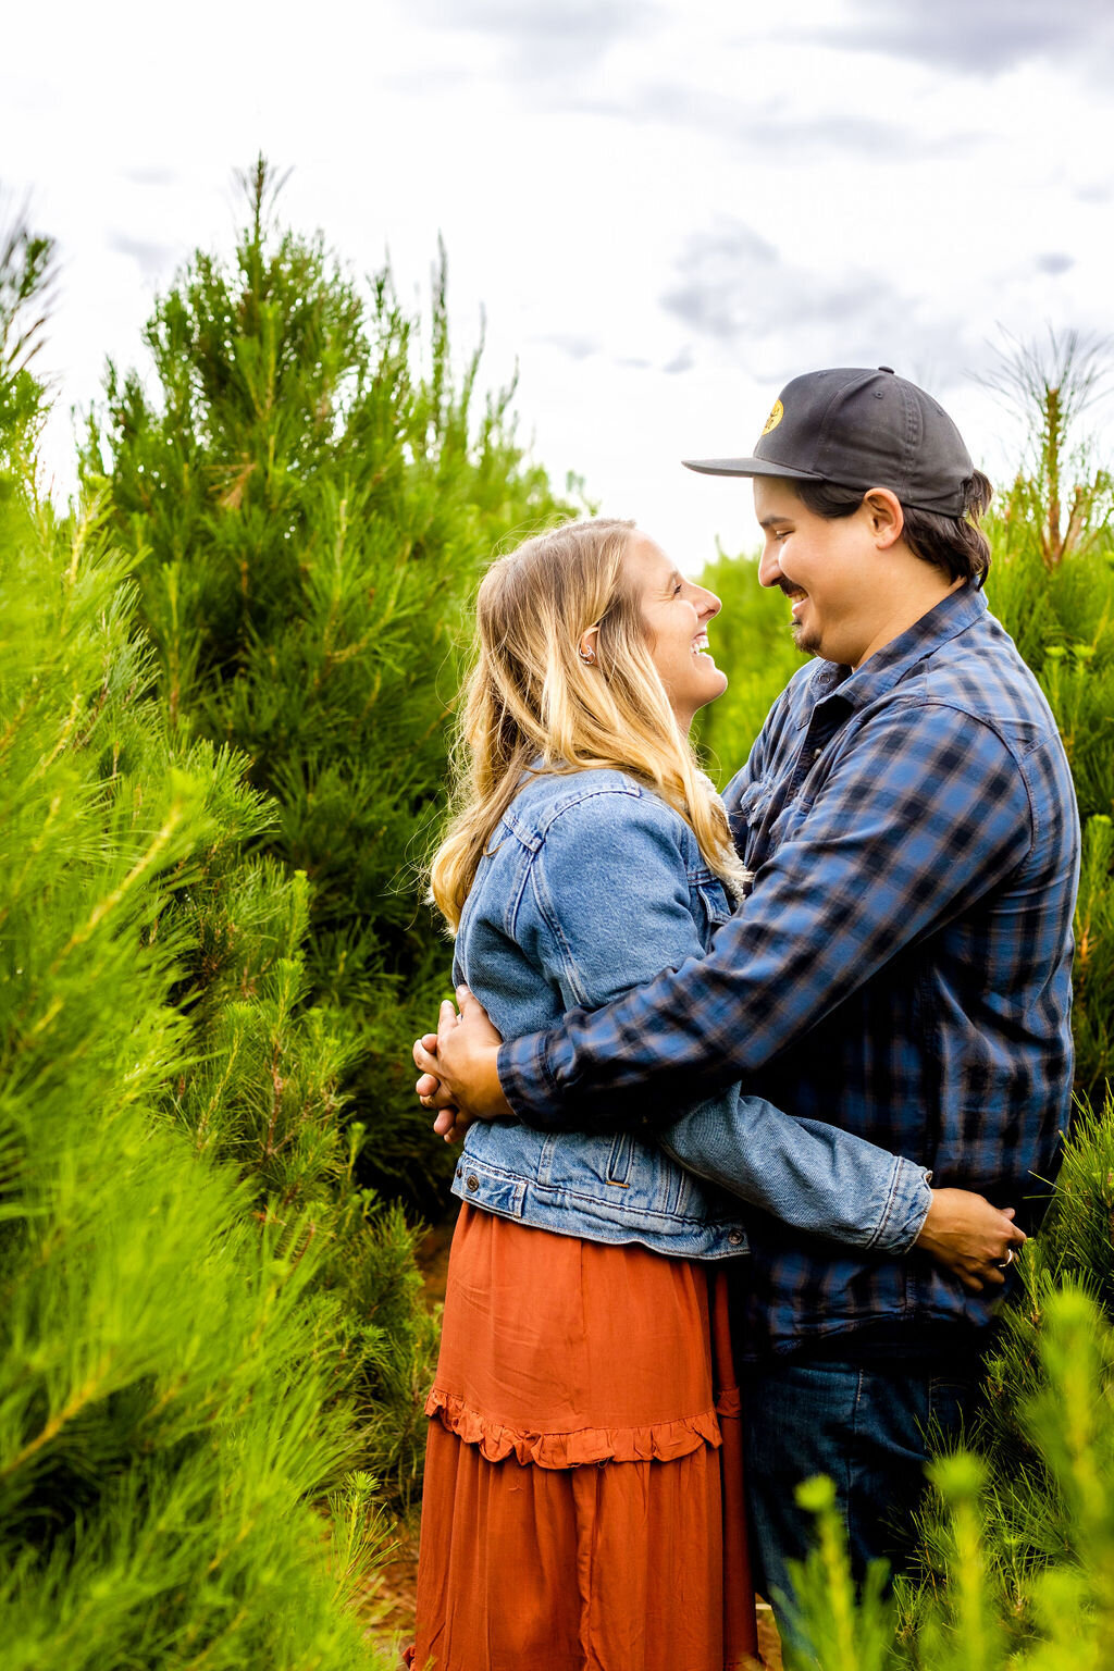
{"type": "Polygon", "coordinates": [[[623,563],[633,528],[608,518],[570,521],[498,558],[483,578],[454,754],[456,810],[429,877],[453,927],[529,770],[631,774],[680,812],[717,876],[733,889],[742,881],[723,805],[651,660],[623,563]],[[586,663],[580,642],[593,625],[595,662],[586,663]]]}

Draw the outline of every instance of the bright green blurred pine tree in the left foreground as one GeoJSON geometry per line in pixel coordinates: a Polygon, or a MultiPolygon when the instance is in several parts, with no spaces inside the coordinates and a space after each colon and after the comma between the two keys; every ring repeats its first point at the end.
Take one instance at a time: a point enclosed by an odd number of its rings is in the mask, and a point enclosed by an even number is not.
{"type": "MultiPolygon", "coordinates": [[[[147,698],[104,511],[37,493],[45,406],[13,346],[48,249],[33,282],[10,271],[33,246],[17,231],[0,264],[2,1659],[372,1671],[352,1604],[381,1534],[327,1191],[276,1201],[170,1106],[199,1068],[214,1130],[254,1100],[234,1049],[199,1061],[184,998],[234,889],[261,986],[296,971],[297,886],[239,871],[271,809],[147,698]]],[[[334,1095],[324,1028],[299,1059],[334,1095]]]]}

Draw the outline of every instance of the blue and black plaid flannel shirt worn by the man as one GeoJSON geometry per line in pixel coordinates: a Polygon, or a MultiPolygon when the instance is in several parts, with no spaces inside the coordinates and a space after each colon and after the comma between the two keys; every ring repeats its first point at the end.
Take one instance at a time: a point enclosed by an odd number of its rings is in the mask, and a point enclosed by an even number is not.
{"type": "MultiPolygon", "coordinates": [[[[755,881],[711,952],[506,1043],[514,1111],[621,1128],[740,1079],[1034,1223],[1071,1110],[1079,817],[1049,705],[982,592],[853,673],[803,667],[725,800],[755,881]]],[[[994,1313],[924,1255],[748,1225],[752,1355],[994,1313]]]]}

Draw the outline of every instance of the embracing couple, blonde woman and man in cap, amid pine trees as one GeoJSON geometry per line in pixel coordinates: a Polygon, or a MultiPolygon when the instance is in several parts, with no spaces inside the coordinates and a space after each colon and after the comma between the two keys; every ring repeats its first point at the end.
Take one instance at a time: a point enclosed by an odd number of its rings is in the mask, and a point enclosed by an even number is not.
{"type": "Polygon", "coordinates": [[[418,1671],[725,1671],[755,1584],[792,1644],[813,1474],[900,1567],[1069,1116],[1077,815],[985,476],[889,368],[691,468],[753,478],[815,657],[722,800],[720,600],[653,540],[568,523],[479,588],[433,864],[469,991],[414,1046],[464,1133],[418,1671]]]}

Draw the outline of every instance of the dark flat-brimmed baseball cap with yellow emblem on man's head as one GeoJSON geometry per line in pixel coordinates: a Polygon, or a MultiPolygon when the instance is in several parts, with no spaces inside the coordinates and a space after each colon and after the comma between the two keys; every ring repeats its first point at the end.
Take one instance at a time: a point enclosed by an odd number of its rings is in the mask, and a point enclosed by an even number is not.
{"type": "Polygon", "coordinates": [[[787,383],[752,458],[686,458],[708,476],[785,476],[890,488],[910,510],[964,515],[974,475],[964,438],[915,383],[875,371],[807,371],[787,383]]]}

